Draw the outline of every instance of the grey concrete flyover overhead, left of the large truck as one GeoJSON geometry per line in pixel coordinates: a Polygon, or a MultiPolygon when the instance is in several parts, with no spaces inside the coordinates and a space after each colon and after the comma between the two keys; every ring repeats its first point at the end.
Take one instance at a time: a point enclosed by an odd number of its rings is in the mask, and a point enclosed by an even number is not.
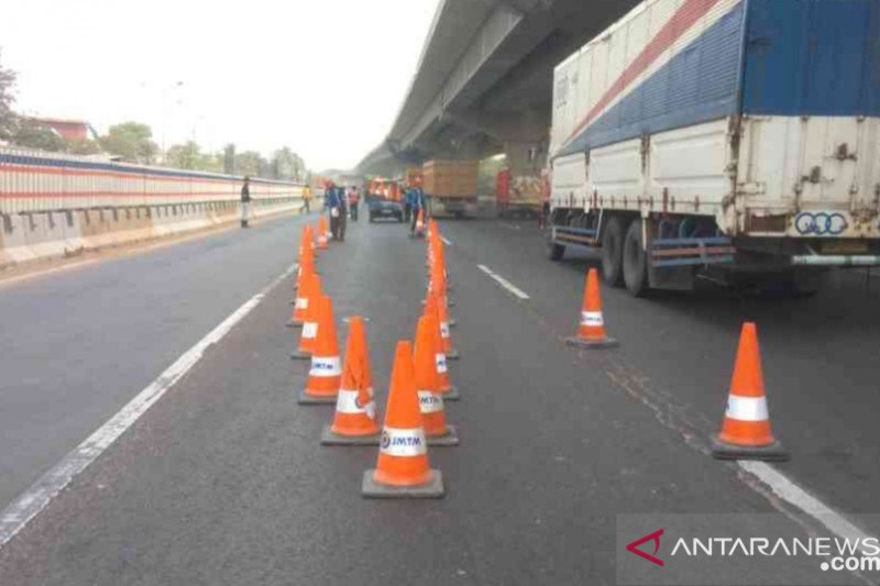
{"type": "Polygon", "coordinates": [[[359,169],[393,175],[432,157],[506,153],[515,173],[534,173],[547,152],[553,67],[636,4],[441,0],[394,125],[359,169]]]}

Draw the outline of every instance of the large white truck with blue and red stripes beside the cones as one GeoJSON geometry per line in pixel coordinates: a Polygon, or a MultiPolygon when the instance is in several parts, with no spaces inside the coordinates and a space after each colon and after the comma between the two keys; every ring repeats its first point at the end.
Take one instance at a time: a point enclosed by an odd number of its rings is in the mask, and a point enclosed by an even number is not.
{"type": "Polygon", "coordinates": [[[648,0],[554,69],[548,251],[632,295],[880,264],[880,2],[648,0]]]}

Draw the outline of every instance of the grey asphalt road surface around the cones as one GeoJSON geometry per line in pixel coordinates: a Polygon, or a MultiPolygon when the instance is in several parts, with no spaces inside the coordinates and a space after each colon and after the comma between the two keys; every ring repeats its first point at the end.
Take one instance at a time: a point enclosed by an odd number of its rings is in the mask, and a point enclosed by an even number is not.
{"type": "MultiPolygon", "coordinates": [[[[302,222],[3,288],[0,425],[14,450],[0,455],[0,500],[284,274],[302,222]]],[[[444,499],[364,500],[375,450],[318,445],[331,409],[295,401],[306,369],[287,357],[286,277],[0,549],[0,584],[614,584],[618,513],[796,512],[707,455],[744,319],[758,323],[774,432],[792,452],[767,468],[880,529],[859,516],[880,487],[880,285],[837,276],[799,301],[711,284],[648,300],[605,289],[622,345],[578,352],[563,340],[587,258],[547,261],[527,223],[441,229],[462,355],[450,363],[462,400],[447,407],[461,445],[430,453],[444,499]]],[[[337,316],[370,319],[381,407],[424,258],[403,228],[362,221],[319,259],[337,316]]]]}

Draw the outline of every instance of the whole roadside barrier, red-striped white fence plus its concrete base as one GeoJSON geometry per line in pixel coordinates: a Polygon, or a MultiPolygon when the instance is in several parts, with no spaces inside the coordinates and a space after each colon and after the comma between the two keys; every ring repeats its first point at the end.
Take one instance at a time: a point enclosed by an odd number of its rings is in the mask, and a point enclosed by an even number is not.
{"type": "MultiPolygon", "coordinates": [[[[0,146],[0,266],[241,218],[242,178],[0,146]]],[[[252,215],[299,211],[302,185],[251,180],[252,215]]]]}

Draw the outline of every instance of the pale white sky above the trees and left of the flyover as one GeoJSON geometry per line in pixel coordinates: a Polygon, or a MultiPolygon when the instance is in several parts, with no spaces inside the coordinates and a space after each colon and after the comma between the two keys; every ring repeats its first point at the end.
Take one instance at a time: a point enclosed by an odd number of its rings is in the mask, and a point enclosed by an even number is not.
{"type": "Polygon", "coordinates": [[[391,130],[437,1],[2,0],[0,59],[20,112],[350,168],[391,130]]]}

